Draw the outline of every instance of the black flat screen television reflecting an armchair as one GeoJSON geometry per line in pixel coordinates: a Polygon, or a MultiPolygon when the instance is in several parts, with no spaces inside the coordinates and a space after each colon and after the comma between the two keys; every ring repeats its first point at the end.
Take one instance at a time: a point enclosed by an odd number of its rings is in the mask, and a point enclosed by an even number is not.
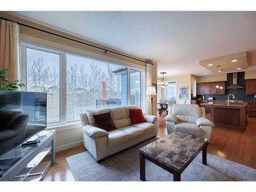
{"type": "Polygon", "coordinates": [[[46,96],[0,90],[0,155],[46,128],[46,96]]]}

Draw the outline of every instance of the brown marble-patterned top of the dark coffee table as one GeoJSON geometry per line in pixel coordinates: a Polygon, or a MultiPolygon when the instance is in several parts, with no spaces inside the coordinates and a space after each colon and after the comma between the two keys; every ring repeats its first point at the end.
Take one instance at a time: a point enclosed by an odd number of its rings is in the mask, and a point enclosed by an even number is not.
{"type": "Polygon", "coordinates": [[[182,173],[188,164],[199,154],[207,139],[173,132],[139,149],[139,151],[156,161],[182,173]]]}

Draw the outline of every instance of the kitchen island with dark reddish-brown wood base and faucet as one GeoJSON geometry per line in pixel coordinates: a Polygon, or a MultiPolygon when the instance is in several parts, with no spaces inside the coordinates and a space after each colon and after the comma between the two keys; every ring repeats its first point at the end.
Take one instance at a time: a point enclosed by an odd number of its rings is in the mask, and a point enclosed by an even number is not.
{"type": "Polygon", "coordinates": [[[216,126],[238,129],[241,132],[246,130],[248,103],[247,102],[225,102],[212,101],[201,103],[201,106],[210,106],[211,121],[216,126]]]}

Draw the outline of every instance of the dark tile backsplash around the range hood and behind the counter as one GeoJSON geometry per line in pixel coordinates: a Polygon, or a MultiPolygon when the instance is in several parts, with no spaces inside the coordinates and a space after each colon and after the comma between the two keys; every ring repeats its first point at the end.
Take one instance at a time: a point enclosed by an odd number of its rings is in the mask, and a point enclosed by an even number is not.
{"type": "MultiPolygon", "coordinates": [[[[230,86],[233,83],[233,74],[227,74],[227,81],[225,82],[225,87],[230,86]]],[[[238,72],[238,84],[245,87],[244,72],[238,72]]],[[[225,95],[205,95],[207,100],[209,97],[214,97],[215,100],[227,100],[227,96],[233,94],[235,100],[244,100],[244,101],[254,101],[254,95],[246,95],[245,89],[226,89],[225,95]]],[[[203,95],[197,95],[197,98],[203,98],[203,95]]],[[[231,98],[231,97],[230,97],[231,98]]]]}

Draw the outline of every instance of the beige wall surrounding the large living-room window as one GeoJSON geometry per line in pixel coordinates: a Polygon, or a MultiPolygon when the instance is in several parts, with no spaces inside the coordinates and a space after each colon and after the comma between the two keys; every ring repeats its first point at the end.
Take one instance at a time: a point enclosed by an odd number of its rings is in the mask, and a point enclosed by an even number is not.
{"type": "MultiPolygon", "coordinates": [[[[79,38],[79,37],[76,37],[76,36],[73,36],[73,35],[70,35],[67,33],[56,31],[56,30],[50,29],[48,27],[29,22],[27,20],[6,14],[4,12],[0,12],[0,16],[4,17],[4,18],[11,19],[15,22],[23,23],[23,24],[26,24],[29,26],[33,26],[33,27],[45,30],[45,31],[49,31],[52,33],[56,33],[56,34],[65,36],[65,37],[69,37],[69,38],[76,39],[76,40],[79,40],[82,42],[86,42],[88,44],[91,44],[91,45],[94,45],[97,47],[101,47],[103,49],[108,49],[108,50],[118,52],[123,55],[127,55],[127,56],[131,56],[131,57],[140,59],[140,60],[145,60],[143,58],[139,58],[139,57],[136,57],[133,55],[129,55],[129,54],[120,52],[118,50],[114,50],[112,48],[108,48],[108,47],[96,44],[95,42],[84,40],[82,38],[79,38]]],[[[38,30],[34,30],[34,29],[27,28],[24,26],[20,26],[19,31],[20,31],[20,39],[25,40],[25,41],[32,41],[32,42],[40,44],[40,45],[46,45],[46,46],[50,46],[53,48],[67,50],[70,52],[76,52],[76,53],[80,53],[80,54],[88,54],[90,56],[95,56],[97,58],[101,58],[101,59],[105,59],[105,60],[109,60],[109,61],[113,61],[113,62],[118,62],[125,66],[130,66],[130,67],[136,67],[136,66],[139,67],[140,66],[140,69],[142,69],[142,68],[145,69],[145,62],[137,61],[137,60],[123,57],[123,56],[113,54],[110,52],[106,52],[106,54],[104,54],[103,50],[92,48],[90,46],[80,44],[79,42],[75,42],[72,40],[57,37],[55,35],[51,35],[51,34],[48,34],[45,32],[40,32],[38,30]]],[[[152,68],[152,73],[153,73],[152,74],[152,82],[157,83],[157,63],[154,63],[153,68],[152,68]]],[[[153,101],[154,102],[153,103],[153,109],[154,109],[153,113],[154,114],[157,114],[157,102],[156,101],[157,101],[157,97],[155,96],[154,101],[153,101]]],[[[67,148],[78,146],[78,145],[82,144],[83,138],[82,138],[81,127],[69,129],[69,127],[67,127],[67,125],[66,125],[66,128],[63,129],[62,131],[61,131],[61,129],[59,129],[59,127],[57,130],[58,130],[56,132],[57,151],[62,151],[67,148]]]]}

